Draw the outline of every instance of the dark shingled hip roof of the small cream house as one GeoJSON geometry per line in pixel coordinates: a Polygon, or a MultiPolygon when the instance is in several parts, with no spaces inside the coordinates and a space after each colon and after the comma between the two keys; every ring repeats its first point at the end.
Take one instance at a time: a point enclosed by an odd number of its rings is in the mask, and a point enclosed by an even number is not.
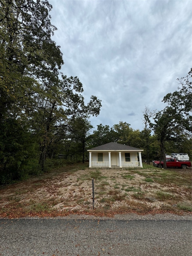
{"type": "Polygon", "coordinates": [[[138,149],[124,144],[110,142],[92,149],[88,149],[87,151],[143,151],[143,149],[138,149]]]}

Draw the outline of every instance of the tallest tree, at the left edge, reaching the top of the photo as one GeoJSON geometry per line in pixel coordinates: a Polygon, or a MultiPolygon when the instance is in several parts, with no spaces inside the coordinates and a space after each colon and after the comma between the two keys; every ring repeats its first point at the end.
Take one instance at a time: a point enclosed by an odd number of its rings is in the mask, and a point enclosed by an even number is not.
{"type": "Polygon", "coordinates": [[[31,143],[23,145],[31,132],[26,126],[28,115],[32,115],[36,94],[42,93],[45,72],[58,73],[63,64],[62,53],[51,39],[56,29],[50,22],[51,8],[46,0],[0,1],[1,170],[10,163],[19,169],[21,159],[29,156],[31,143]],[[11,134],[16,134],[14,152],[10,152],[11,134]]]}

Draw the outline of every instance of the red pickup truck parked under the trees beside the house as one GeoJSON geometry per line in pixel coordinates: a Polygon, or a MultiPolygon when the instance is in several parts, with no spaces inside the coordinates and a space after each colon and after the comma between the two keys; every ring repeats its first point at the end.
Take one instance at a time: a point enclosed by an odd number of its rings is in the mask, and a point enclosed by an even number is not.
{"type": "MultiPolygon", "coordinates": [[[[187,166],[191,167],[190,161],[177,161],[175,158],[166,158],[166,164],[167,167],[178,167],[182,169],[186,169],[187,166]]],[[[159,161],[153,161],[153,165],[155,167],[163,168],[163,161],[161,161],[161,165],[159,164],[159,161]]]]}

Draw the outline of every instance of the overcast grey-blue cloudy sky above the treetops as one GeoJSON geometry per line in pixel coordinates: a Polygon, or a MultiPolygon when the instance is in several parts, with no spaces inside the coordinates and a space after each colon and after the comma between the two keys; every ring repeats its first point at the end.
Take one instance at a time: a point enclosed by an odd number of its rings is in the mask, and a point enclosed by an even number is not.
{"type": "Polygon", "coordinates": [[[120,121],[143,130],[143,110],[162,110],[163,97],[192,67],[191,1],[49,0],[53,37],[67,77],[77,76],[87,103],[101,99],[91,125],[120,121]]]}

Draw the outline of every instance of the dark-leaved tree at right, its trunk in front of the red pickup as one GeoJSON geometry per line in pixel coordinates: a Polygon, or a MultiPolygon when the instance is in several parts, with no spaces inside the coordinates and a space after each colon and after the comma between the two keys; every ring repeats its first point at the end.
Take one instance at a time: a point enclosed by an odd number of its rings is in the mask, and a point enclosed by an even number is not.
{"type": "Polygon", "coordinates": [[[178,91],[168,93],[163,101],[167,104],[164,110],[158,111],[154,117],[152,128],[160,143],[161,155],[166,166],[166,141],[179,140],[183,134],[191,136],[192,128],[192,69],[186,77],[178,79],[178,91]]]}

